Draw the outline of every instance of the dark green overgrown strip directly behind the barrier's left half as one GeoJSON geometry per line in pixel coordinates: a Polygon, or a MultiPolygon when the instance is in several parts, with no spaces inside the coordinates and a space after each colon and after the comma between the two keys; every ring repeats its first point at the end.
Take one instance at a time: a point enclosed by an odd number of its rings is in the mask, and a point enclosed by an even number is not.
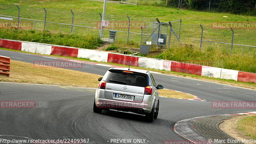
{"type": "Polygon", "coordinates": [[[100,38],[95,36],[53,34],[49,31],[42,32],[33,29],[0,29],[0,38],[44,44],[56,44],[84,49],[95,49],[104,44],[100,38]]]}

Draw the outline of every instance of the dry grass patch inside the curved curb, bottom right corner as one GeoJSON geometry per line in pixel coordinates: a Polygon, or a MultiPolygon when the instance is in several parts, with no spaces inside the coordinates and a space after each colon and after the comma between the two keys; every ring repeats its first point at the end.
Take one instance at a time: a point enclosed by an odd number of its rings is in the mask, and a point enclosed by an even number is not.
{"type": "Polygon", "coordinates": [[[236,123],[236,128],[243,132],[244,135],[256,140],[256,115],[240,119],[236,123]]]}

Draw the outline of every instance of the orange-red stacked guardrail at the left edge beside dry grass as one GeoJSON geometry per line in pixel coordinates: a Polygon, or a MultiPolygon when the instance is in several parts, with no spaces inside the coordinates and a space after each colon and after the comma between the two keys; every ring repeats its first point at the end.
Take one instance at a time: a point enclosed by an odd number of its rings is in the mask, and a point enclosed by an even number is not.
{"type": "Polygon", "coordinates": [[[0,55],[0,75],[10,76],[10,57],[0,55]]]}

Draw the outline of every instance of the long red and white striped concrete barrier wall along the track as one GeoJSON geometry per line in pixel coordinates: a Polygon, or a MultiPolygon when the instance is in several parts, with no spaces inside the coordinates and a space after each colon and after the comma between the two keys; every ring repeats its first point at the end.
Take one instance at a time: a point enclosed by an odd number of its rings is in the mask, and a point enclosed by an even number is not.
{"type": "Polygon", "coordinates": [[[159,60],[139,56],[117,54],[112,52],[102,52],[75,47],[66,47],[52,44],[40,44],[6,39],[0,39],[0,47],[46,55],[62,55],[67,57],[86,58],[100,62],[112,62],[124,65],[129,65],[130,61],[130,65],[136,67],[177,71],[182,73],[195,74],[199,76],[256,83],[256,73],[242,72],[224,68],[214,68],[170,60],[159,60]]]}

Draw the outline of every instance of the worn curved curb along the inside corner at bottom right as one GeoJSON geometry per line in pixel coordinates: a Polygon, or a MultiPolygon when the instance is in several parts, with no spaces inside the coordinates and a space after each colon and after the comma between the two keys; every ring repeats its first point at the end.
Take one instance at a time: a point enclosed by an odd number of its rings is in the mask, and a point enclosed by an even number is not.
{"type": "Polygon", "coordinates": [[[211,116],[200,116],[200,117],[194,117],[194,118],[188,118],[181,121],[178,121],[174,127],[173,130],[178,133],[180,136],[184,137],[185,139],[188,139],[189,141],[193,143],[197,143],[197,141],[208,141],[207,138],[202,137],[196,130],[194,129],[192,123],[199,119],[204,119],[207,117],[212,116],[228,116],[228,115],[248,115],[248,114],[256,114],[256,111],[254,112],[245,112],[245,113],[238,113],[238,114],[225,114],[225,115],[211,115],[211,116]]]}

